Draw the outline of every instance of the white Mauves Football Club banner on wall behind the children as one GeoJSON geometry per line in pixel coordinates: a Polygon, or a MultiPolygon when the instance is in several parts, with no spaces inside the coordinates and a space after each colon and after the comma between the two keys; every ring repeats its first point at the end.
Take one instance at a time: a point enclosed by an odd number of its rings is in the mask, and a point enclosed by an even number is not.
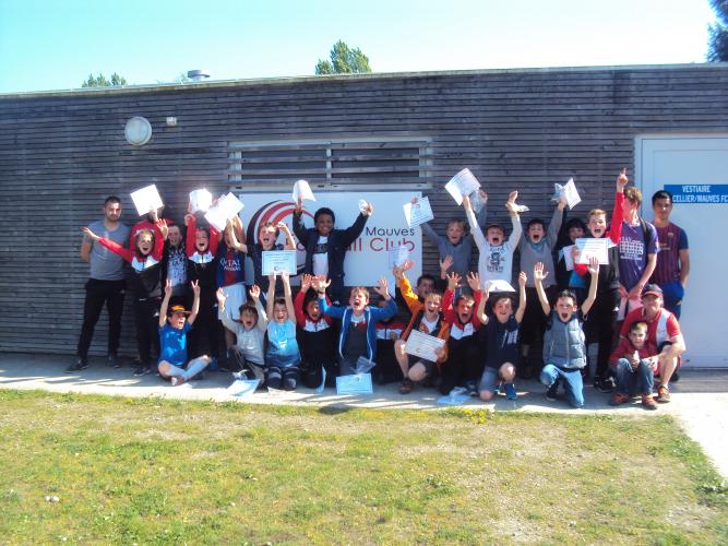
{"type": "MultiPolygon", "coordinates": [[[[421,192],[416,192],[421,198],[421,192]]],[[[248,245],[258,242],[258,230],[266,222],[285,222],[291,233],[294,230],[293,212],[295,204],[290,193],[246,193],[238,192],[237,197],[246,203],[240,213],[246,227],[248,245]]],[[[381,192],[319,192],[315,202],[303,202],[303,225],[313,227],[313,214],[322,206],[327,206],[336,215],[334,227],[346,229],[359,215],[358,202],[365,199],[374,206],[374,213],[369,217],[363,232],[346,253],[344,263],[344,281],[347,286],[373,286],[381,276],[391,277],[389,271],[390,250],[404,246],[409,250],[409,259],[415,265],[407,276],[415,282],[422,270],[422,240],[418,228],[410,228],[402,210],[402,203],[413,198],[411,192],[381,191],[381,192]]],[[[284,242],[281,234],[278,242],[284,242]]],[[[306,252],[299,246],[298,266],[301,271],[306,262],[306,252]]],[[[252,281],[252,263],[246,264],[247,282],[252,281]]],[[[390,292],[394,292],[392,286],[390,292]]]]}

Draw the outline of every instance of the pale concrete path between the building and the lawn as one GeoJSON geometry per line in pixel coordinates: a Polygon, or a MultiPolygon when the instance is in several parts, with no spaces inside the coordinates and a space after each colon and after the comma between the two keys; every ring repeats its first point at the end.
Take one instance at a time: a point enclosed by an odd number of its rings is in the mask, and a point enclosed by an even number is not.
{"type": "MultiPolygon", "coordinates": [[[[68,356],[0,354],[0,389],[39,389],[50,392],[76,392],[117,396],[158,396],[163,399],[204,400],[214,402],[238,401],[252,404],[290,404],[314,406],[347,406],[396,410],[441,410],[440,394],[434,389],[415,388],[407,395],[399,394],[398,384],[375,385],[373,395],[339,396],[333,389],[317,393],[311,389],[295,392],[256,392],[244,399],[227,393],[232,382],[230,373],[206,372],[205,379],[171,387],[157,376],[133,377],[131,368],[112,369],[102,358],[92,358],[88,369],[80,373],[64,373],[71,359],[68,356]]],[[[671,415],[685,432],[701,444],[718,471],[728,477],[728,370],[684,369],[678,383],[671,385],[672,402],[660,404],[656,412],[647,412],[633,404],[611,407],[608,394],[585,388],[586,406],[572,410],[565,402],[549,402],[545,388],[536,381],[516,382],[518,399],[509,401],[499,396],[484,403],[472,399],[464,407],[487,408],[496,412],[547,412],[563,414],[671,415]]]]}

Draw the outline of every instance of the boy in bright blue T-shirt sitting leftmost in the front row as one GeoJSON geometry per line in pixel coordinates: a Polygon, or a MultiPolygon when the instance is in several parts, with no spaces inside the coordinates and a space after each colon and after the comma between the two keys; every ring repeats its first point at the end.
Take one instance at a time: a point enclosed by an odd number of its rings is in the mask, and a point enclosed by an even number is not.
{"type": "Polygon", "coordinates": [[[187,333],[192,329],[194,319],[200,310],[200,285],[192,283],[192,312],[187,311],[184,306],[172,306],[169,319],[167,318],[167,306],[171,297],[171,281],[165,285],[165,298],[159,309],[159,364],[157,369],[165,379],[171,378],[172,387],[186,383],[194,376],[204,370],[210,364],[207,355],[199,356],[190,360],[187,366],[187,333]],[[188,317],[189,314],[189,317],[188,317]]]}

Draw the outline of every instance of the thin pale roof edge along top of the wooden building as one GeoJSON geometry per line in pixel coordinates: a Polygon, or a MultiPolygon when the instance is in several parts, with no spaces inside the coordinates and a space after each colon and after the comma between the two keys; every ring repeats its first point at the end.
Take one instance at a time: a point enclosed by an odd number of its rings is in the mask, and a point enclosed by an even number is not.
{"type": "Polygon", "coordinates": [[[683,64],[619,64],[619,66],[586,66],[586,67],[542,67],[517,69],[477,69],[449,70],[429,72],[372,72],[368,74],[332,74],[332,75],[302,75],[255,78],[242,80],[212,80],[190,83],[162,83],[154,85],[120,85],[114,87],[80,87],[72,90],[26,91],[17,93],[0,93],[3,98],[35,98],[69,95],[110,95],[124,93],[148,93],[155,91],[187,91],[215,87],[236,87],[247,85],[289,85],[312,82],[346,82],[355,80],[387,80],[396,78],[442,78],[447,75],[485,75],[485,74],[517,74],[517,73],[549,73],[549,72],[583,72],[583,71],[640,71],[657,69],[728,69],[728,62],[701,62],[683,64]]]}

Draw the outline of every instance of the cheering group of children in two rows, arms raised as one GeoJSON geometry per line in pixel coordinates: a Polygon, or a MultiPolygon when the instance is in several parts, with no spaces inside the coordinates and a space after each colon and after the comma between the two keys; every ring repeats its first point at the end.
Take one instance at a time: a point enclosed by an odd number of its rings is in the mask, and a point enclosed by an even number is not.
{"type": "Polygon", "coordinates": [[[284,223],[260,226],[258,240],[246,242],[237,217],[220,234],[187,214],[183,238],[179,226],[151,213],[145,225],[132,230],[130,249],[88,228],[85,233],[131,264],[140,359],[136,375],[151,371],[152,342],[158,339],[162,377],[174,385],[199,377],[206,367],[218,366],[224,331],[227,369],[270,389],[333,385],[336,376],[377,370],[379,378],[401,379],[403,394],[416,384],[432,384],[443,394],[460,388],[484,401],[499,392],[515,400],[516,375],[538,373],[549,400],[556,400],[562,385],[568,402],[580,407],[588,341],[598,346],[592,355],[595,385],[609,390],[613,378],[633,382],[643,394],[643,405],[654,408],[653,375],[647,370],[655,368],[655,347],[646,343],[646,325],[634,324],[629,340],[612,352],[613,311],[621,287],[616,247],[609,250],[608,264],[592,258],[588,264],[576,263],[572,271],[563,263],[569,258],[563,256],[565,244],[586,236],[585,227],[590,237],[619,242],[626,182],[622,173],[611,226],[605,211],[593,210],[586,226],[571,222],[561,229],[564,202],[559,201],[549,225],[532,219],[523,237],[517,192],[505,204],[513,226],[510,237],[501,225],[485,223],[487,194],[480,192],[484,206],[477,216],[465,197],[469,234],[463,219],[450,221],[444,237],[422,226],[440,253],[439,278],[423,274],[416,294],[406,275],[411,262],[395,266],[396,289],[381,278],[374,287],[377,305],[362,286],[349,290],[348,305],[341,304],[346,300],[346,249],[363,230],[373,212],[370,204],[361,207],[350,227],[336,229],[335,215],[326,207],[315,212],[313,227],[305,227],[301,202],[297,203],[294,232],[307,256],[295,298],[287,273],[262,274],[264,251],[296,248],[284,223]],[[285,234],[285,246],[277,244],[279,232],[285,234]],[[479,253],[477,272],[469,268],[473,242],[479,253]],[[516,249],[521,273],[517,299],[513,299],[510,292],[497,289],[502,286],[499,283],[512,281],[516,249]],[[252,260],[255,278],[248,289],[246,254],[252,260]],[[409,311],[406,325],[397,322],[401,309],[395,299],[409,311]],[[438,337],[433,359],[407,353],[407,340],[415,330],[438,337]],[[539,343],[542,357],[535,358],[529,353],[539,343]],[[398,378],[396,372],[385,373],[392,363],[398,367],[398,378]]]}

